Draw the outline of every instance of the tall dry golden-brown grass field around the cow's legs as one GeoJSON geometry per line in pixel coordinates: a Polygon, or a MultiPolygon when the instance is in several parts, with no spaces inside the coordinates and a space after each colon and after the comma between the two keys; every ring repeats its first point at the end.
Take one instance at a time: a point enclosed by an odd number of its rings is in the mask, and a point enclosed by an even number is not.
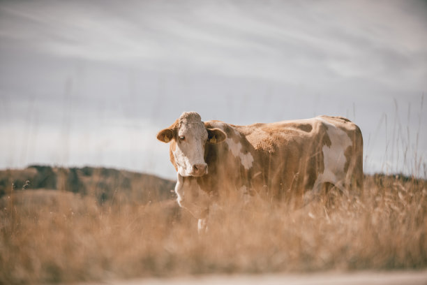
{"type": "Polygon", "coordinates": [[[174,201],[105,203],[61,191],[3,197],[0,284],[173,276],[426,268],[427,184],[367,177],[304,208],[218,211],[209,233],[174,201]]]}

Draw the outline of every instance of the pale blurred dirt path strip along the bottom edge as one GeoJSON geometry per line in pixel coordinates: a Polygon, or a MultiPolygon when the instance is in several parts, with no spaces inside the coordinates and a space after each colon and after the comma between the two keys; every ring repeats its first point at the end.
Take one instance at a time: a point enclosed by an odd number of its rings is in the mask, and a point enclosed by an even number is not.
{"type": "Polygon", "coordinates": [[[427,271],[403,272],[354,272],[354,273],[314,273],[307,275],[208,275],[201,277],[177,277],[173,279],[133,279],[126,281],[110,281],[84,283],[87,285],[427,285],[427,271]]]}

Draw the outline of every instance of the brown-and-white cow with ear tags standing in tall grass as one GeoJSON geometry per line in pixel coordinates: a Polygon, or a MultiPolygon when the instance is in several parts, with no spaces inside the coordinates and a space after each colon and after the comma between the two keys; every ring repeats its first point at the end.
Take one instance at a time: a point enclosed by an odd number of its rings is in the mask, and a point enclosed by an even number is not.
{"type": "Polygon", "coordinates": [[[221,198],[286,200],[318,193],[325,183],[341,191],[363,187],[363,138],[344,117],[237,126],[183,112],[157,138],[170,143],[177,202],[198,219],[200,232],[221,198]]]}

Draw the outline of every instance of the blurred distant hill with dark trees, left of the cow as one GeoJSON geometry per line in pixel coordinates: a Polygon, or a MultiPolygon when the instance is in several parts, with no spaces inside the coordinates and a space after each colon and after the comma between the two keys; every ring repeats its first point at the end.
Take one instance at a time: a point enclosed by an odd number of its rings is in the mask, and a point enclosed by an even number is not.
{"type": "Polygon", "coordinates": [[[0,197],[45,189],[92,196],[98,203],[151,203],[174,198],[172,180],[112,168],[29,166],[0,170],[0,197]]]}

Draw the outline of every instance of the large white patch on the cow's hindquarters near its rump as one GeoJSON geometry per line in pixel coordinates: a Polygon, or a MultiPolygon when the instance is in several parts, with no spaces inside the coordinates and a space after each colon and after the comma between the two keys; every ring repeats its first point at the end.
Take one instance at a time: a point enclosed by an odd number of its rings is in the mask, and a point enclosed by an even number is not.
{"type": "Polygon", "coordinates": [[[352,145],[352,140],[345,131],[337,128],[333,124],[318,118],[324,125],[327,126],[327,133],[331,146],[324,145],[322,147],[324,171],[317,176],[313,190],[320,190],[320,186],[324,182],[330,182],[339,189],[343,190],[343,180],[345,179],[344,166],[346,162],[345,149],[352,145]]]}

